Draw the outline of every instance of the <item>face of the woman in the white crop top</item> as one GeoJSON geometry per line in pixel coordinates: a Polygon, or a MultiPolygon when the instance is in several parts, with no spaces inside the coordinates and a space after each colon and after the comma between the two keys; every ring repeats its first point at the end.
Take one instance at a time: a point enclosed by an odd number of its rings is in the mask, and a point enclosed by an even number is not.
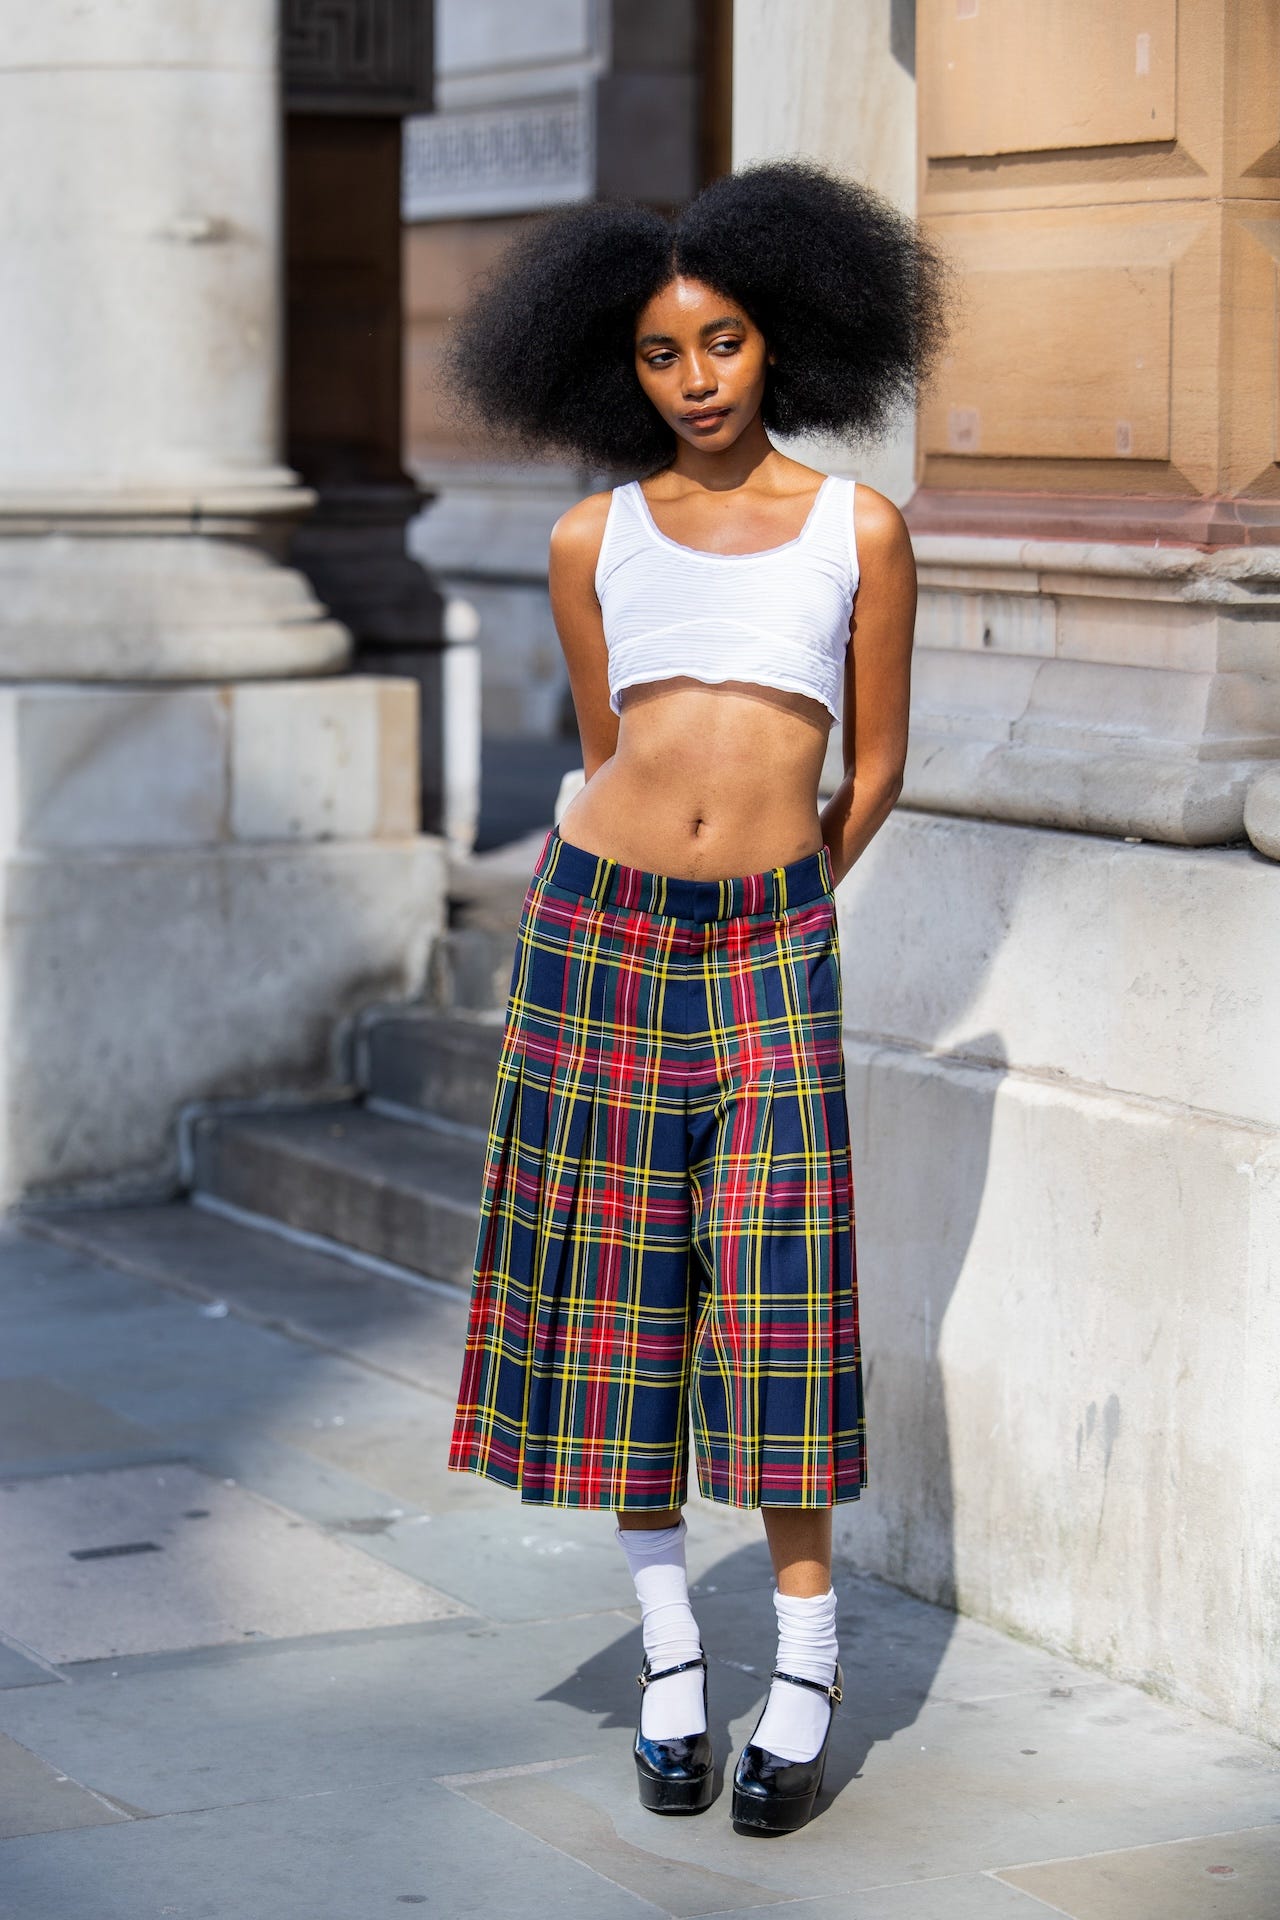
{"type": "Polygon", "coordinates": [[[635,321],[639,384],[691,447],[733,445],[760,411],[771,359],[754,321],[704,280],[668,280],[635,321]]]}

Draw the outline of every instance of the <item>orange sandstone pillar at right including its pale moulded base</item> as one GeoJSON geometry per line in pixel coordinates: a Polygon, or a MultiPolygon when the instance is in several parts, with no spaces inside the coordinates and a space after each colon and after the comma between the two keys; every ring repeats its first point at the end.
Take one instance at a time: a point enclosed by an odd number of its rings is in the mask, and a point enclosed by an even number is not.
{"type": "Polygon", "coordinates": [[[961,309],[908,511],[910,801],[1244,835],[1280,755],[1278,84],[1265,6],[921,0],[961,309]]]}

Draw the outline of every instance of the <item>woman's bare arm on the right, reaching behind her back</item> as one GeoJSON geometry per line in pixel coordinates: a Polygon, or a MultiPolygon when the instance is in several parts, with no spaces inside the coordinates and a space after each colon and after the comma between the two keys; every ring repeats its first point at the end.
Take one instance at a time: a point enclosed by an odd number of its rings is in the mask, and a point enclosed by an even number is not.
{"type": "Polygon", "coordinates": [[[837,885],[902,793],[915,632],[915,555],[906,520],[867,486],[858,486],[854,513],[860,578],[844,662],[844,780],[821,810],[837,885]]]}

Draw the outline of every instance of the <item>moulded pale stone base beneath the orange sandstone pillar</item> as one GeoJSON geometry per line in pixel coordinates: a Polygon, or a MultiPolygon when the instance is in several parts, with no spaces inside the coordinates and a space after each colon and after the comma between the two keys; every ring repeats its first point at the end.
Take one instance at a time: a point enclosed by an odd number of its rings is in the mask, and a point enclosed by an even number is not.
{"type": "Polygon", "coordinates": [[[917,536],[904,801],[1186,847],[1280,764],[1280,549],[917,536]]]}

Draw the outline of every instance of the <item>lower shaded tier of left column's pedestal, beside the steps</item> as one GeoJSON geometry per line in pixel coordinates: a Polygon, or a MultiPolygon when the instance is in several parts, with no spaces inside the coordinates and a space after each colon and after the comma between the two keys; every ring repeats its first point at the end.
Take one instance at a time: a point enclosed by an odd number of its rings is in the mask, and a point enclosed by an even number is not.
{"type": "Polygon", "coordinates": [[[332,1089],[443,908],[432,835],[0,864],[0,1204],[171,1190],[186,1102],[332,1089]]]}

